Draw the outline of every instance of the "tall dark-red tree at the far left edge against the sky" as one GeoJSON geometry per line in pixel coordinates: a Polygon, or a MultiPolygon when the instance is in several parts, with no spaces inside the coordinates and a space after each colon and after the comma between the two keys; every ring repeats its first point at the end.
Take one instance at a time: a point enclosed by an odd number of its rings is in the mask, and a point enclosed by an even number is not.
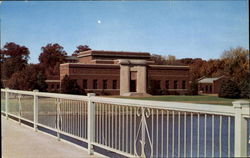
{"type": "Polygon", "coordinates": [[[1,49],[1,77],[9,79],[15,72],[21,71],[28,63],[29,49],[14,42],[6,43],[1,49]]]}

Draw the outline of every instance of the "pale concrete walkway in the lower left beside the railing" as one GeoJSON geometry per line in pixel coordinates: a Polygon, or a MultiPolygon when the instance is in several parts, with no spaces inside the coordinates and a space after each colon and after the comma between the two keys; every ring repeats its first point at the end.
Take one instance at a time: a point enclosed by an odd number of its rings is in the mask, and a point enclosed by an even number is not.
{"type": "Polygon", "coordinates": [[[93,158],[74,145],[58,141],[25,125],[1,117],[3,158],[93,158]]]}

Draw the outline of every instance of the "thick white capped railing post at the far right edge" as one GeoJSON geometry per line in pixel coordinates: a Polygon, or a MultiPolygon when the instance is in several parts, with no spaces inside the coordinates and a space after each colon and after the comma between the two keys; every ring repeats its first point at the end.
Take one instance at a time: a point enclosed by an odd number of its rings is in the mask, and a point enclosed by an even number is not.
{"type": "Polygon", "coordinates": [[[250,106],[248,101],[239,100],[233,102],[235,111],[234,127],[234,156],[247,156],[247,119],[243,117],[244,113],[249,113],[250,106]]]}

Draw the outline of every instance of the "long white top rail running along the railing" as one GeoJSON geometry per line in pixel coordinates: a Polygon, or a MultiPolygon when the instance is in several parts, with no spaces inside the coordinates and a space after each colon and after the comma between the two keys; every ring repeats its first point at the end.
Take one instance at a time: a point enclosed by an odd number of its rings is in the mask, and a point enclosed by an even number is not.
{"type": "MultiPolygon", "coordinates": [[[[21,90],[11,90],[11,89],[1,89],[1,92],[6,92],[6,90],[11,93],[36,95],[36,96],[50,97],[50,98],[61,98],[61,99],[80,100],[80,101],[88,101],[88,99],[90,99],[92,102],[114,104],[121,106],[145,107],[151,109],[153,108],[153,109],[175,110],[182,112],[195,112],[195,113],[226,115],[226,116],[233,116],[235,114],[235,108],[233,106],[226,106],[226,105],[162,102],[162,101],[148,101],[148,100],[135,100],[135,99],[107,98],[107,97],[97,97],[97,96],[88,97],[83,95],[21,91],[21,90]]],[[[250,106],[244,107],[243,109],[244,110],[242,110],[242,115],[250,116],[250,106]]]]}

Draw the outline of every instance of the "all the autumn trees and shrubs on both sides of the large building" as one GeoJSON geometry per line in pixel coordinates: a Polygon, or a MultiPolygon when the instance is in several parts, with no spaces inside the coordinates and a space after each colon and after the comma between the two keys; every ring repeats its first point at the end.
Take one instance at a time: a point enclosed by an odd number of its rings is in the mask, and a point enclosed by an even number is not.
{"type": "MultiPolygon", "coordinates": [[[[87,45],[79,45],[71,54],[77,56],[82,51],[91,50],[87,45]]],[[[66,61],[67,52],[58,43],[49,43],[41,47],[38,64],[29,64],[30,51],[27,47],[18,45],[14,42],[6,43],[0,49],[1,63],[1,87],[4,85],[11,89],[46,91],[45,80],[50,76],[60,75],[60,64],[66,61]]],[[[176,59],[173,55],[166,57],[153,54],[152,60],[159,65],[188,65],[190,67],[190,94],[197,95],[197,80],[200,77],[219,77],[228,76],[230,82],[222,85],[222,93],[234,87],[237,92],[236,97],[250,97],[250,73],[249,73],[249,50],[237,47],[222,52],[219,59],[203,60],[201,58],[182,58],[176,59]]],[[[67,88],[73,86],[74,93],[80,93],[75,81],[68,77],[63,79],[61,92],[71,93],[67,88]],[[73,82],[73,83],[72,83],[73,82]],[[65,88],[63,88],[65,87],[65,88]]],[[[229,90],[230,91],[230,90],[229,90]]],[[[232,91],[232,90],[231,90],[232,91]]],[[[222,97],[227,97],[222,94],[222,97]]]]}

